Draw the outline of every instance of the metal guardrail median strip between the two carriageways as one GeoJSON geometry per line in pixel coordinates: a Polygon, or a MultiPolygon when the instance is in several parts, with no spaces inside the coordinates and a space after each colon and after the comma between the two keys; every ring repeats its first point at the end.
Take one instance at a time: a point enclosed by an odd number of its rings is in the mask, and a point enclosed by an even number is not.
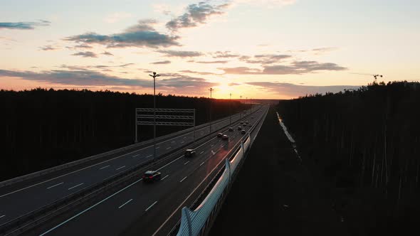
{"type": "MultiPolygon", "coordinates": [[[[252,113],[248,114],[247,116],[251,114],[252,113]]],[[[225,120],[226,119],[223,119],[220,122],[223,122],[225,120]]],[[[229,126],[229,124],[222,127],[221,129],[224,129],[227,126],[229,126]]],[[[211,132],[211,134],[215,134],[219,130],[220,129],[215,130],[214,132],[211,132]]],[[[191,147],[194,148],[194,146],[198,146],[199,144],[205,141],[208,141],[209,139],[214,138],[214,136],[212,136],[211,134],[200,137],[199,139],[196,140],[199,142],[196,142],[191,147]]],[[[95,183],[93,186],[90,186],[89,188],[83,188],[80,191],[77,191],[75,193],[65,196],[64,198],[56,200],[53,203],[45,205],[36,210],[33,210],[30,213],[27,213],[25,215],[21,215],[19,218],[10,220],[9,222],[6,222],[3,225],[0,225],[0,235],[19,235],[22,232],[25,232],[26,230],[31,229],[32,227],[35,227],[36,225],[40,225],[41,223],[46,222],[47,220],[50,220],[51,218],[57,215],[60,215],[66,210],[69,210],[70,208],[75,207],[75,205],[79,205],[80,203],[85,203],[86,201],[94,198],[99,193],[110,191],[110,189],[115,188],[116,186],[120,186],[122,183],[129,182],[130,179],[136,176],[139,176],[142,173],[142,171],[144,171],[143,168],[148,167],[150,163],[157,165],[157,164],[164,163],[165,161],[166,162],[172,161],[172,159],[183,154],[184,148],[189,145],[191,145],[191,142],[185,143],[184,145],[179,146],[179,148],[172,150],[169,154],[162,155],[164,156],[164,158],[160,156],[162,160],[158,159],[157,162],[153,163],[153,160],[151,159],[149,161],[139,163],[136,166],[129,168],[127,171],[124,171],[122,173],[117,173],[114,176],[111,176],[105,179],[103,182],[95,183]]]]}

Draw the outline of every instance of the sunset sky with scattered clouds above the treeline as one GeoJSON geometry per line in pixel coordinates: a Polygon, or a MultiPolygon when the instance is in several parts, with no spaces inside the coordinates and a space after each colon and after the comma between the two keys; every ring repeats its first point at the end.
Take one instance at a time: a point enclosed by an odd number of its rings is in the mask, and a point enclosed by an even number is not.
{"type": "Polygon", "coordinates": [[[291,99],[419,81],[418,0],[0,0],[0,89],[291,99]]]}

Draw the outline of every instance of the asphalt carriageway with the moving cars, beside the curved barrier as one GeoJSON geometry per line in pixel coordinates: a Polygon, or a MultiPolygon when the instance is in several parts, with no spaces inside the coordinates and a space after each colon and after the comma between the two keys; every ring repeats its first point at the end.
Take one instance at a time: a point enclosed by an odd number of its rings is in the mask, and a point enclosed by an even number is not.
{"type": "MultiPolygon", "coordinates": [[[[267,111],[268,107],[262,107],[253,114],[253,119],[246,120],[254,123],[259,117],[265,117],[267,111]]],[[[263,120],[253,125],[261,127],[262,124],[263,120]]],[[[190,205],[198,197],[223,164],[226,154],[244,135],[236,129],[238,122],[232,127],[233,132],[227,127],[223,129],[229,141],[214,136],[196,148],[196,156],[182,155],[158,166],[161,181],[146,184],[139,176],[125,188],[104,195],[95,203],[80,205],[28,235],[167,235],[179,220],[182,206],[190,205]]],[[[251,136],[258,134],[259,129],[255,130],[251,136]]]]}

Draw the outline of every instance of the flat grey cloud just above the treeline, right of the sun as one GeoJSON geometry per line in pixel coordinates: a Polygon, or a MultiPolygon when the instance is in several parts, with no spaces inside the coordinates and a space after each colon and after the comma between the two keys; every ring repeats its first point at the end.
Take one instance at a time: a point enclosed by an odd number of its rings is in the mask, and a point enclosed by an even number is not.
{"type": "Polygon", "coordinates": [[[263,90],[276,92],[284,97],[299,97],[305,95],[314,95],[316,93],[340,92],[345,89],[358,89],[360,86],[335,85],[335,86],[309,86],[293,85],[285,82],[246,82],[248,85],[262,87],[263,90]]]}

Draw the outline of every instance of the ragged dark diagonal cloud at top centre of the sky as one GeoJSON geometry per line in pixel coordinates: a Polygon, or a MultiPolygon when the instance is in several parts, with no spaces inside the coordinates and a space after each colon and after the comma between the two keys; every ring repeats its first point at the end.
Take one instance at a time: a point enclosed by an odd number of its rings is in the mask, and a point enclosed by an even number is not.
{"type": "Polygon", "coordinates": [[[190,28],[198,24],[206,23],[207,19],[213,15],[224,14],[224,9],[229,4],[211,5],[209,1],[201,1],[198,4],[187,6],[186,12],[177,18],[166,23],[167,28],[177,31],[179,28],[190,28]]]}

